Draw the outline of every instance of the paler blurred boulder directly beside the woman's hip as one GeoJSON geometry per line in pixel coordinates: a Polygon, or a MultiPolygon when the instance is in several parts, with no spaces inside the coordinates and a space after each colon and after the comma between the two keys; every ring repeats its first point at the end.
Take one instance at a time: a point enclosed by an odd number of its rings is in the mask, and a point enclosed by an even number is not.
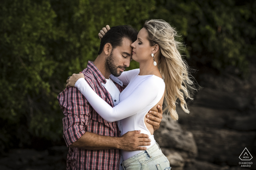
{"type": "Polygon", "coordinates": [[[197,147],[193,134],[182,130],[177,121],[164,115],[160,129],[154,133],[155,139],[163,154],[169,159],[170,166],[175,170],[183,170],[185,160],[197,156],[197,147]]]}

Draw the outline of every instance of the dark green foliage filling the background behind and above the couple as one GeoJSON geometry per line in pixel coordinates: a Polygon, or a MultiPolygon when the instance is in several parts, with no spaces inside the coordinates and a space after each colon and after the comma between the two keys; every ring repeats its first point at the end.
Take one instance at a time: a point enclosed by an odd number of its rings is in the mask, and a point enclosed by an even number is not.
{"type": "MultiPolygon", "coordinates": [[[[246,71],[255,55],[256,2],[234,0],[3,0],[0,3],[0,151],[32,137],[62,139],[57,95],[97,57],[106,24],[140,29],[163,19],[187,44],[188,60],[246,71]]],[[[129,69],[138,68],[132,61],[129,69]]]]}

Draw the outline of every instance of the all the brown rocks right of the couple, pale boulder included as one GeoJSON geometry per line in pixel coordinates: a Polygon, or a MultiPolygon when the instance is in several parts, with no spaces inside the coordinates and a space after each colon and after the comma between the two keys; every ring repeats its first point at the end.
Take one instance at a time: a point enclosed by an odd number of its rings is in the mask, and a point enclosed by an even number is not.
{"type": "Polygon", "coordinates": [[[174,170],[256,169],[256,67],[249,79],[200,75],[203,86],[189,102],[190,114],[177,108],[178,122],[163,116],[155,138],[174,170]],[[253,164],[241,167],[250,151],[253,164]]]}

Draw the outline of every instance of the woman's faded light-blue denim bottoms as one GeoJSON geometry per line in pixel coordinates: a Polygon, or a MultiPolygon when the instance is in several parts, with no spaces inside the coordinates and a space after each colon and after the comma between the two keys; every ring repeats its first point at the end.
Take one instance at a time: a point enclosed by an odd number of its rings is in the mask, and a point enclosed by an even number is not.
{"type": "Polygon", "coordinates": [[[170,170],[170,162],[163,155],[159,145],[155,143],[147,150],[126,159],[124,170],[170,170]]]}

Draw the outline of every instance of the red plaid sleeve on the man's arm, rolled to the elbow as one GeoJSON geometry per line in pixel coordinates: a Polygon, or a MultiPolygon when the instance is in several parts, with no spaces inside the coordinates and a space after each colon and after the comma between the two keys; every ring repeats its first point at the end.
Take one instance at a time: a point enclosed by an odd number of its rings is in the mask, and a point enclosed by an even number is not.
{"type": "Polygon", "coordinates": [[[75,87],[67,87],[58,95],[63,111],[63,138],[67,146],[77,141],[86,132],[85,127],[91,118],[91,107],[75,87]]]}

